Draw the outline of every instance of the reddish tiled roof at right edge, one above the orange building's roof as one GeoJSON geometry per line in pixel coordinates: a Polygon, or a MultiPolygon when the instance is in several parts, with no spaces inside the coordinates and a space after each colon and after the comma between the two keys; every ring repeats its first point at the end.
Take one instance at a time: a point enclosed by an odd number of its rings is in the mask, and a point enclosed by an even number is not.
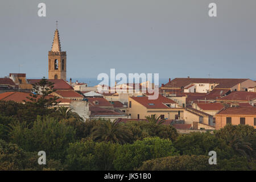
{"type": "Polygon", "coordinates": [[[228,94],[228,96],[222,97],[217,101],[250,101],[254,98],[256,98],[256,92],[234,91],[228,94]]]}

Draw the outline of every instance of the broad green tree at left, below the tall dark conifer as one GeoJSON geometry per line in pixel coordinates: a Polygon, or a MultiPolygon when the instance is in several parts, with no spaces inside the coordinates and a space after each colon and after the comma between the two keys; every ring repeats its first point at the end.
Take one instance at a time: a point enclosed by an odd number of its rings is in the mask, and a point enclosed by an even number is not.
{"type": "Polygon", "coordinates": [[[25,122],[11,125],[11,142],[18,144],[26,151],[45,151],[52,159],[63,159],[68,143],[75,140],[75,130],[54,118],[38,117],[28,127],[25,122]]]}

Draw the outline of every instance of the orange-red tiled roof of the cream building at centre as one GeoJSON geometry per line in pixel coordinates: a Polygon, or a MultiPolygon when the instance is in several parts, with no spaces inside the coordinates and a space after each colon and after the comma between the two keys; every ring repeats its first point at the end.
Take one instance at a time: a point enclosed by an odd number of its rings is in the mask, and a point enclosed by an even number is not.
{"type": "Polygon", "coordinates": [[[143,105],[144,107],[147,107],[148,109],[169,109],[170,107],[164,105],[164,104],[175,104],[173,100],[170,98],[164,97],[162,95],[159,95],[158,99],[156,100],[149,100],[148,97],[142,96],[142,97],[130,97],[133,100],[139,102],[139,104],[143,105]]]}

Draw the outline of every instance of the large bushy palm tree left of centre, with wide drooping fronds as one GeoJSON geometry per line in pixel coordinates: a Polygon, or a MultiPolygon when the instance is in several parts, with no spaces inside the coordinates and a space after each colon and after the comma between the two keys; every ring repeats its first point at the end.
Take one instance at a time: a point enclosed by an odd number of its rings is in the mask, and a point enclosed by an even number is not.
{"type": "Polygon", "coordinates": [[[132,136],[130,130],[116,121],[101,121],[100,126],[95,126],[92,129],[93,140],[97,142],[105,141],[124,144],[127,143],[132,136]]]}

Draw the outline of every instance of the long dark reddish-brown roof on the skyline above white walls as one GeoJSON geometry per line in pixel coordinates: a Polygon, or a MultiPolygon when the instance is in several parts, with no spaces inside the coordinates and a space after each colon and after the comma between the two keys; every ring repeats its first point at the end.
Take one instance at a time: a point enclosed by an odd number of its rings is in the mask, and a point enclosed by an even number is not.
{"type": "Polygon", "coordinates": [[[240,79],[240,78],[175,78],[171,82],[168,82],[163,87],[167,88],[181,88],[181,86],[185,87],[189,84],[193,83],[210,83],[213,84],[214,82],[217,85],[215,88],[232,88],[234,85],[241,83],[248,79],[240,79]]]}

